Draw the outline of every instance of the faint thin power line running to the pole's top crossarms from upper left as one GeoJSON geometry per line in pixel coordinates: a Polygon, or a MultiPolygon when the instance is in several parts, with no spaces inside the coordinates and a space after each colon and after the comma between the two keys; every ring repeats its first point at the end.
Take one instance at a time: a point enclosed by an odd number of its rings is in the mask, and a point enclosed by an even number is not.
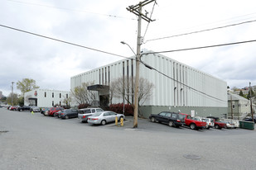
{"type": "Polygon", "coordinates": [[[135,20],[134,18],[119,17],[119,16],[112,15],[112,14],[103,14],[103,13],[97,13],[97,12],[88,12],[88,11],[76,10],[76,9],[71,9],[71,8],[66,8],[66,7],[53,7],[53,6],[48,6],[48,5],[44,5],[44,4],[31,3],[31,2],[22,2],[22,1],[16,1],[16,0],[7,0],[7,1],[17,2],[17,3],[22,3],[22,4],[28,4],[28,5],[33,5],[33,6],[56,8],[56,9],[71,11],[71,12],[84,12],[84,13],[90,13],[90,14],[94,14],[94,15],[101,15],[101,16],[105,16],[105,17],[115,17],[115,18],[135,20]]]}

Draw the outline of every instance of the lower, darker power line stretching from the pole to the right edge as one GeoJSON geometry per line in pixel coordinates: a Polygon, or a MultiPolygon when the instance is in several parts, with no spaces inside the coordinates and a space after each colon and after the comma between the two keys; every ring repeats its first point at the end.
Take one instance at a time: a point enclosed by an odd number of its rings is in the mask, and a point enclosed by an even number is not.
{"type": "Polygon", "coordinates": [[[161,53],[172,53],[172,52],[185,51],[185,50],[199,50],[199,49],[213,48],[213,47],[226,46],[226,45],[239,45],[239,44],[250,43],[250,42],[255,42],[255,41],[256,40],[245,40],[245,41],[220,44],[220,45],[208,45],[208,46],[200,46],[200,47],[193,47],[193,48],[179,49],[179,50],[166,50],[166,51],[150,52],[150,53],[144,53],[144,54],[161,54],[161,53]]]}

